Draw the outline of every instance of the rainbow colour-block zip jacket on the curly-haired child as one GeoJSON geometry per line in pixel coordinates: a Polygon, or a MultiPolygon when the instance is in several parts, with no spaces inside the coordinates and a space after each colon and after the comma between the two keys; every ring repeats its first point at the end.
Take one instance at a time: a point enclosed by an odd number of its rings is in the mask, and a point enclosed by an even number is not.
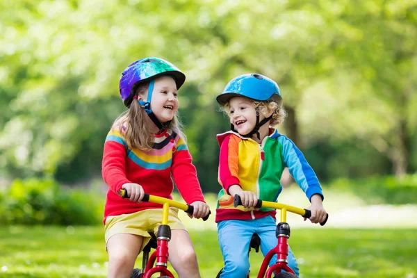
{"type": "Polygon", "coordinates": [[[270,208],[259,211],[240,206],[234,208],[233,197],[228,194],[229,187],[237,184],[243,190],[256,193],[259,199],[276,202],[282,190],[280,179],[285,167],[288,167],[307,198],[314,194],[323,198],[316,174],[300,149],[276,129],[270,129],[270,135],[263,139],[261,145],[233,131],[218,134],[217,138],[220,145],[218,180],[222,190],[218,195],[216,222],[250,220],[267,215],[275,218],[276,212],[270,208]]]}

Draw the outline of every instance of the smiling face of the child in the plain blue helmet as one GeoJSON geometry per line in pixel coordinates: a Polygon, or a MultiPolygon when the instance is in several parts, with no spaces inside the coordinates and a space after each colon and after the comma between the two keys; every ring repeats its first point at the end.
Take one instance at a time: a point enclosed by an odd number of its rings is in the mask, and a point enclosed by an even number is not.
{"type": "Polygon", "coordinates": [[[229,100],[230,123],[239,134],[250,133],[256,125],[256,110],[251,99],[233,97],[229,100]]]}

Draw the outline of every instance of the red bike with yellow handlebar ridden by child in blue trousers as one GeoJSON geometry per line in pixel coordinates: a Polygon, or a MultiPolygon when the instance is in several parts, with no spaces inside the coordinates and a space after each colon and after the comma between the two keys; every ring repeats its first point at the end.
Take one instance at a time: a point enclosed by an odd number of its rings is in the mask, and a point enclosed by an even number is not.
{"type": "MultiPolygon", "coordinates": [[[[242,201],[240,200],[239,195],[234,196],[234,206],[241,206],[242,201]]],[[[301,215],[304,218],[311,217],[311,211],[304,208],[297,208],[295,206],[288,206],[286,204],[279,204],[275,202],[267,202],[258,200],[255,208],[275,208],[281,210],[281,220],[277,224],[276,235],[278,238],[278,244],[276,247],[272,248],[265,258],[263,258],[261,269],[259,270],[258,276],[256,278],[270,278],[272,275],[275,275],[274,278],[296,278],[294,271],[288,266],[288,238],[290,238],[290,225],[286,222],[286,213],[287,211],[291,213],[296,213],[301,215]],[[268,268],[268,265],[274,255],[277,255],[277,263],[271,265],[268,268]],[[284,270],[284,272],[281,272],[284,270]]],[[[327,214],[325,221],[321,222],[320,225],[323,226],[326,224],[329,214],[327,214]]],[[[248,250],[248,256],[251,248],[253,248],[256,253],[259,252],[259,246],[261,245],[261,238],[257,234],[252,236],[250,241],[250,247],[248,250]]],[[[220,277],[222,270],[218,273],[216,278],[220,277]]],[[[249,275],[247,275],[249,278],[249,275]]]]}

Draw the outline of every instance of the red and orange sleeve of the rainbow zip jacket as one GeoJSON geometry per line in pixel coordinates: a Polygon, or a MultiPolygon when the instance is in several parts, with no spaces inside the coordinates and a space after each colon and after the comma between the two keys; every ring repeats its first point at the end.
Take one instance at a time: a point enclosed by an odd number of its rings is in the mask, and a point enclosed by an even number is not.
{"type": "Polygon", "coordinates": [[[238,178],[238,146],[240,140],[238,136],[230,134],[224,137],[220,144],[219,183],[227,193],[229,193],[230,186],[240,186],[238,178]]]}

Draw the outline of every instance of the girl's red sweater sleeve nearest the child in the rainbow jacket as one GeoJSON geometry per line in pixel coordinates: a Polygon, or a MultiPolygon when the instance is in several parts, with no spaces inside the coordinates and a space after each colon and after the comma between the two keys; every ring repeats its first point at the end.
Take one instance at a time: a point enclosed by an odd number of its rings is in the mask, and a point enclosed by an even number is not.
{"type": "Polygon", "coordinates": [[[196,201],[204,202],[202,188],[197,179],[197,170],[193,165],[193,158],[188,152],[186,143],[181,139],[177,143],[176,152],[172,154],[171,171],[179,193],[187,204],[196,201]]]}

